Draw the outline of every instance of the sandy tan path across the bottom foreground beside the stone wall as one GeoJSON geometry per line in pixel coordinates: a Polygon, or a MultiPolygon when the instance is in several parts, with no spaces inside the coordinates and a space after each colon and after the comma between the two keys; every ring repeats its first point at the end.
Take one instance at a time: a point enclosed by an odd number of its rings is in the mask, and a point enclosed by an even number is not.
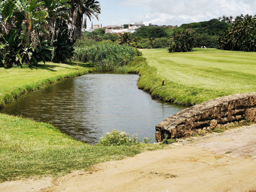
{"type": "Polygon", "coordinates": [[[73,172],[41,191],[256,191],[255,141],[255,125],[233,129],[73,172]]]}

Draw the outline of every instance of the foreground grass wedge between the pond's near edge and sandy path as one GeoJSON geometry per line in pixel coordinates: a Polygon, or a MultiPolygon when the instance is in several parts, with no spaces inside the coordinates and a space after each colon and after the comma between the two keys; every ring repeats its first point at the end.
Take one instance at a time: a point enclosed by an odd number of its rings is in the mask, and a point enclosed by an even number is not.
{"type": "Polygon", "coordinates": [[[63,135],[50,124],[0,114],[0,182],[20,177],[60,176],[157,148],[161,146],[88,145],[63,135]]]}

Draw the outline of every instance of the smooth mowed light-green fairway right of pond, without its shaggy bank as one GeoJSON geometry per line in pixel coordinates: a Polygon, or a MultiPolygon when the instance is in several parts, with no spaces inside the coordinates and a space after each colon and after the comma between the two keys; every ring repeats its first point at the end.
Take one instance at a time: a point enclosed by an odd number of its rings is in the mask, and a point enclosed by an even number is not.
{"type": "Polygon", "coordinates": [[[158,75],[177,84],[237,94],[256,91],[256,53],[217,49],[193,49],[169,53],[145,49],[143,57],[158,75]]]}

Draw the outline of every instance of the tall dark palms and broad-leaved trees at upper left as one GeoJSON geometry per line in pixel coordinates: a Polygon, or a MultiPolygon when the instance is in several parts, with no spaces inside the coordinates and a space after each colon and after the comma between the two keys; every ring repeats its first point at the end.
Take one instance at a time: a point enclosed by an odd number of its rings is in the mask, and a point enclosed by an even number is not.
{"type": "Polygon", "coordinates": [[[95,0],[4,0],[0,2],[0,66],[66,62],[81,34],[84,15],[97,17],[95,0]]]}

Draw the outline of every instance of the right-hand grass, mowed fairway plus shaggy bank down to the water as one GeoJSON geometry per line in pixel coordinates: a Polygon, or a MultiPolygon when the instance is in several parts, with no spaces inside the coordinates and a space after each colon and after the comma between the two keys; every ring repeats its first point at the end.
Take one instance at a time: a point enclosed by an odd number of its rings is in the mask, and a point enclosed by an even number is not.
{"type": "Polygon", "coordinates": [[[142,51],[138,86],[153,97],[193,105],[224,95],[256,91],[256,53],[194,49],[170,54],[166,49],[142,51]],[[165,80],[164,86],[162,79],[165,80]]]}

